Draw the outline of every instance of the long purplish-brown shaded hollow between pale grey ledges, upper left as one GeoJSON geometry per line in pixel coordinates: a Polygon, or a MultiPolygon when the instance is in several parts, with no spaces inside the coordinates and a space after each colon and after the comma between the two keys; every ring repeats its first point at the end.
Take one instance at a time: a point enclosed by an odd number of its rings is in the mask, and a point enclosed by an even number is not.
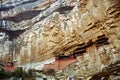
{"type": "Polygon", "coordinates": [[[0,20],[13,21],[15,23],[18,23],[18,22],[21,22],[23,20],[32,19],[33,17],[39,15],[40,12],[41,12],[41,10],[31,10],[31,11],[19,13],[19,14],[15,15],[14,17],[2,18],[0,20]]]}

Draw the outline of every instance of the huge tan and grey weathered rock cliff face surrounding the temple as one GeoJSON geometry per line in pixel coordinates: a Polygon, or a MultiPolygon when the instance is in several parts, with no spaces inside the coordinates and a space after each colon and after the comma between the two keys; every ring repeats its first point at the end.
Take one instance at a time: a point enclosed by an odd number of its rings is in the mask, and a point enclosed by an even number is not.
{"type": "MultiPolygon", "coordinates": [[[[86,79],[106,72],[104,69],[111,70],[112,64],[112,67],[120,67],[119,63],[114,65],[120,61],[119,8],[119,0],[16,2],[13,8],[1,10],[0,20],[6,21],[8,25],[2,25],[8,30],[25,30],[12,39],[13,60],[17,60],[19,65],[40,62],[60,54],[76,54],[76,48],[84,44],[85,52],[78,52],[81,54],[77,62],[68,66],[62,76],[74,74],[86,79]]],[[[106,72],[110,73],[106,76],[115,71],[106,72]]]]}

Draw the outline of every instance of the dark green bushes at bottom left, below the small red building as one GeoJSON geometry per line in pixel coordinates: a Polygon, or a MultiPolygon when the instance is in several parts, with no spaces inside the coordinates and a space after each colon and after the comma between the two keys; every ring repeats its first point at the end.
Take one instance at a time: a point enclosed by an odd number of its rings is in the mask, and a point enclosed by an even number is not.
{"type": "MultiPolygon", "coordinates": [[[[35,73],[32,69],[26,72],[22,68],[17,68],[13,72],[8,72],[5,71],[4,68],[0,68],[0,79],[10,79],[13,77],[15,79],[22,78],[22,80],[34,80],[36,77],[35,73]]],[[[51,73],[51,70],[48,73],[51,73]]]]}

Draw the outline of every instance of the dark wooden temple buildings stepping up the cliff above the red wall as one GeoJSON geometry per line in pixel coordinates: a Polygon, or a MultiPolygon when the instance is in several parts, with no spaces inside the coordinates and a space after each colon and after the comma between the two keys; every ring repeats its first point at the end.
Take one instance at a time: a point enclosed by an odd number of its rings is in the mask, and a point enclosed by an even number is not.
{"type": "Polygon", "coordinates": [[[103,34],[101,36],[98,36],[97,40],[94,42],[92,40],[89,40],[87,43],[78,44],[77,45],[78,47],[73,51],[73,54],[70,54],[68,56],[59,55],[57,59],[62,60],[62,59],[76,58],[77,56],[81,56],[83,53],[86,53],[86,48],[94,44],[96,45],[96,47],[107,45],[109,44],[108,38],[103,34]]]}

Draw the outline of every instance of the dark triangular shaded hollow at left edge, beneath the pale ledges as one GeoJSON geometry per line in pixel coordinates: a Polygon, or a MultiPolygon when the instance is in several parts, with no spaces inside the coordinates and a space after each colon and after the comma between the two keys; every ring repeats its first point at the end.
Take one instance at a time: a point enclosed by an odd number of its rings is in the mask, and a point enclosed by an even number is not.
{"type": "Polygon", "coordinates": [[[19,35],[24,33],[26,30],[7,30],[0,27],[0,32],[5,32],[9,35],[9,40],[12,41],[13,39],[17,38],[19,35]]]}

